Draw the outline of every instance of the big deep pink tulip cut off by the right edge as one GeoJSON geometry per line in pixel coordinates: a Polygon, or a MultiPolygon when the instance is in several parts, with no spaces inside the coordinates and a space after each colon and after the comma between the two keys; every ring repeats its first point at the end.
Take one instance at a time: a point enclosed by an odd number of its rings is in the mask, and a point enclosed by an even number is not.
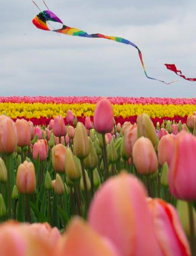
{"type": "Polygon", "coordinates": [[[196,137],[185,131],[176,135],[169,163],[169,187],[173,196],[181,200],[196,199],[196,137]]]}

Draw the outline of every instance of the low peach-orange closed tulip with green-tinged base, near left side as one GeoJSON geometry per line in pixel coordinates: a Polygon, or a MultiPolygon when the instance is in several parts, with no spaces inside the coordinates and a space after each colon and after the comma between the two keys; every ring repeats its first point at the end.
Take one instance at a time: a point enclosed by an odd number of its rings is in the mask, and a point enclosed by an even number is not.
{"type": "Polygon", "coordinates": [[[16,175],[16,186],[20,193],[31,194],[36,188],[35,168],[32,162],[24,161],[19,165],[16,175]]]}

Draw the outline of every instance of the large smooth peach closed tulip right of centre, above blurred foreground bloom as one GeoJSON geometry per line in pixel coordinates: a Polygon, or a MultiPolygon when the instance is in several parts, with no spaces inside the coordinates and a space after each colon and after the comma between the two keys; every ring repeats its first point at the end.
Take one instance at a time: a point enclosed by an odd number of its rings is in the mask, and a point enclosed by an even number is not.
{"type": "Polygon", "coordinates": [[[152,174],[158,169],[158,159],[148,138],[140,137],[133,146],[133,162],[140,174],[152,174]]]}

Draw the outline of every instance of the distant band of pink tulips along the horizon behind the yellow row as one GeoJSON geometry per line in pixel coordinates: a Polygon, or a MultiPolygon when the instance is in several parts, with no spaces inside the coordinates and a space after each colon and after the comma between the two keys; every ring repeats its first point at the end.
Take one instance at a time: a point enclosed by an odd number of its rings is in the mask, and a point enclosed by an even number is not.
{"type": "MultiPolygon", "coordinates": [[[[73,104],[73,103],[91,103],[96,104],[102,97],[51,97],[51,96],[13,96],[13,97],[0,97],[0,102],[10,103],[56,103],[56,104],[73,104]]],[[[145,97],[107,97],[112,104],[123,105],[126,104],[161,104],[161,105],[196,105],[196,98],[145,98],[145,97]]]]}

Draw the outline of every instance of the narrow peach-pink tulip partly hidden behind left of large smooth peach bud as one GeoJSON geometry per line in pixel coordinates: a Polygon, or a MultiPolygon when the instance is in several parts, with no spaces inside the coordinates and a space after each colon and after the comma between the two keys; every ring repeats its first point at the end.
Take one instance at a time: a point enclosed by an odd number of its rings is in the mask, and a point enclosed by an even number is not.
{"type": "Polygon", "coordinates": [[[136,123],[134,123],[134,125],[129,126],[127,128],[124,136],[125,136],[126,151],[127,151],[128,155],[130,155],[130,157],[131,157],[133,146],[134,146],[136,140],[138,139],[138,129],[137,129],[136,123]]]}

